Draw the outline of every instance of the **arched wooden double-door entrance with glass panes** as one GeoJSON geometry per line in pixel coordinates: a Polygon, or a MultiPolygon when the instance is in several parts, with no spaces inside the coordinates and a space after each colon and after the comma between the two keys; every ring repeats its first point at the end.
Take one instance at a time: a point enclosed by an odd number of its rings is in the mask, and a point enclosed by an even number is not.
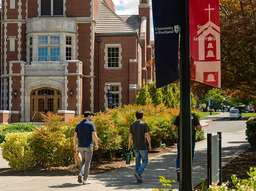
{"type": "Polygon", "coordinates": [[[30,120],[42,122],[41,113],[57,113],[61,110],[61,92],[57,89],[40,88],[33,90],[30,94],[30,120]]]}

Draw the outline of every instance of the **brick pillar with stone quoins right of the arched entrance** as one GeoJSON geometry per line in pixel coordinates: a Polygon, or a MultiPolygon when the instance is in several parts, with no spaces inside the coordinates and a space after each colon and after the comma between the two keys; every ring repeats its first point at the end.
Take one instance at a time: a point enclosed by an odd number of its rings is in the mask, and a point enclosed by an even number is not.
{"type": "Polygon", "coordinates": [[[82,112],[82,62],[65,61],[65,110],[82,112]],[[70,92],[73,91],[73,96],[70,92]]]}

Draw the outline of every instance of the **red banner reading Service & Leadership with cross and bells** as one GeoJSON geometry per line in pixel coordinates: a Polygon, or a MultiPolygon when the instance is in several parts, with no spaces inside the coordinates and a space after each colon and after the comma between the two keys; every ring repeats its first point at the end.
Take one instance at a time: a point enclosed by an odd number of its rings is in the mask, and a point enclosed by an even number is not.
{"type": "Polygon", "coordinates": [[[189,0],[191,79],[221,87],[219,0],[189,0]]]}

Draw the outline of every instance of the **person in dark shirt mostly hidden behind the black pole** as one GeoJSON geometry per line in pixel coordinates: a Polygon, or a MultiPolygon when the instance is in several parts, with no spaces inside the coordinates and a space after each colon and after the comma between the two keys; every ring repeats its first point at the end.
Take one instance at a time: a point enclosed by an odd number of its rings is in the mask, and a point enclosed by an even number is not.
{"type": "MultiPolygon", "coordinates": [[[[194,113],[192,114],[194,116],[193,119],[193,127],[197,130],[201,130],[202,126],[199,123],[199,120],[197,118],[197,116],[194,115],[194,113]]],[[[180,182],[180,115],[177,115],[177,117],[174,119],[174,123],[172,125],[172,130],[176,130],[178,127],[178,140],[177,140],[177,159],[176,159],[176,173],[177,173],[177,180],[178,182],[180,182]]],[[[196,145],[196,141],[195,141],[195,137],[196,137],[196,130],[193,131],[192,133],[192,162],[193,162],[193,158],[194,158],[194,151],[195,151],[195,145],[196,145]]]]}

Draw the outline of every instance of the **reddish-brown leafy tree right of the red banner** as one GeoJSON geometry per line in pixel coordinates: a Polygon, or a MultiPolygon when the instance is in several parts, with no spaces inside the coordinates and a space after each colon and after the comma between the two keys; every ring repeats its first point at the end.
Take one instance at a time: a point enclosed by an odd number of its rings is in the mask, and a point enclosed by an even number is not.
{"type": "Polygon", "coordinates": [[[256,2],[220,0],[221,86],[256,96],[256,2]]]}

